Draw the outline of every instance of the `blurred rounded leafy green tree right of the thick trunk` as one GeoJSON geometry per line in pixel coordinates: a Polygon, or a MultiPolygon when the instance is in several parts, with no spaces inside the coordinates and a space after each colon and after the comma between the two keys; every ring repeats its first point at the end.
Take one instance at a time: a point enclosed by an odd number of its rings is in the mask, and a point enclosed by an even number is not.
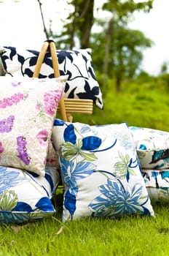
{"type": "MultiPolygon", "coordinates": [[[[91,45],[95,52],[99,53],[93,56],[93,61],[100,73],[103,73],[104,69],[103,45],[106,45],[106,29],[104,31],[102,34],[93,34],[93,45],[91,45]]],[[[117,91],[120,91],[123,78],[134,78],[135,72],[140,69],[143,49],[151,45],[152,41],[146,38],[141,31],[114,24],[114,34],[110,37],[109,59],[107,59],[107,77],[115,78],[117,91]]],[[[105,84],[104,76],[103,81],[105,84]]]]}

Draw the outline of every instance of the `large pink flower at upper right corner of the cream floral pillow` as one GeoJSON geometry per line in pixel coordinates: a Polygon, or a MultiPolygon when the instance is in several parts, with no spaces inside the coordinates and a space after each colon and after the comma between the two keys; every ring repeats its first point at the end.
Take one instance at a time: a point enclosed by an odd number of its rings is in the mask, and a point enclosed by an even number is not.
{"type": "Polygon", "coordinates": [[[55,114],[55,110],[60,100],[60,90],[47,91],[44,94],[44,112],[50,116],[55,114]]]}

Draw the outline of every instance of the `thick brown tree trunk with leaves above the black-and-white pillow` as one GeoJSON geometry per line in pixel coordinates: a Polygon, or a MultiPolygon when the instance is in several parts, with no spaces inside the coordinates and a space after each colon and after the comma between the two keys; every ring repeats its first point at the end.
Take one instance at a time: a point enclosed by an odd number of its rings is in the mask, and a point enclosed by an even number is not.
{"type": "Polygon", "coordinates": [[[50,37],[55,39],[57,45],[62,43],[69,49],[74,48],[76,39],[79,40],[79,48],[88,48],[94,23],[94,0],[71,0],[67,4],[71,5],[73,11],[63,24],[62,34],[58,36],[50,31],[50,37]]]}

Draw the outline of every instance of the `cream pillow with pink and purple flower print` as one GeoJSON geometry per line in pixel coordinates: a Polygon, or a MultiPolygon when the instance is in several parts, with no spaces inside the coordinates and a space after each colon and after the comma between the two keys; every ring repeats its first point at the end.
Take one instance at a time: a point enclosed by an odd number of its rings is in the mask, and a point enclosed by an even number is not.
{"type": "Polygon", "coordinates": [[[0,77],[0,165],[44,175],[66,77],[0,77]]]}

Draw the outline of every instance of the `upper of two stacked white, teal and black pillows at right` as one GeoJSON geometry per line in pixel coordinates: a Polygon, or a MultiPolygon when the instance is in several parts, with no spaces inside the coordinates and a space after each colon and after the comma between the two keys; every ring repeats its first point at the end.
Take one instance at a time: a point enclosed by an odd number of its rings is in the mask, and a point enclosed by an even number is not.
{"type": "Polygon", "coordinates": [[[169,168],[169,132],[141,127],[130,127],[130,131],[142,168],[169,168]]]}

